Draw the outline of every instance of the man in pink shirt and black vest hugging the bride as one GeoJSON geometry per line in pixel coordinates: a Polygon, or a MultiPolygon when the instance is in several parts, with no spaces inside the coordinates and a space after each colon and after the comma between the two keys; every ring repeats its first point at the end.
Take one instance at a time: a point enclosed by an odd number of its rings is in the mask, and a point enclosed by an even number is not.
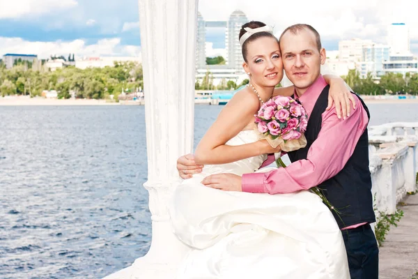
{"type": "MultiPolygon", "coordinates": [[[[288,27],[279,43],[284,70],[295,86],[294,97],[309,116],[307,146],[288,153],[293,163],[286,168],[242,177],[214,174],[202,183],[221,190],[270,194],[318,186],[341,212],[338,216],[332,211],[346,244],[351,278],[377,279],[378,246],[370,227],[376,218],[366,129],[369,110],[357,96],[355,109],[344,121],[338,118],[334,107],[325,110],[329,86],[320,75],[320,65],[325,63],[326,56],[313,27],[307,24],[288,27]]],[[[190,156],[178,159],[178,170],[183,178],[187,177],[185,174],[199,172],[190,156]]]]}

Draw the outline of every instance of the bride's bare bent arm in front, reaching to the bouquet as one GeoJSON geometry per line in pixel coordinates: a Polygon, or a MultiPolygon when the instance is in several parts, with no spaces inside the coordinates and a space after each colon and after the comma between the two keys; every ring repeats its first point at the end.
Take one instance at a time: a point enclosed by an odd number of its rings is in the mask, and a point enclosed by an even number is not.
{"type": "Polygon", "coordinates": [[[273,153],[274,149],[265,140],[238,146],[226,144],[248,123],[254,121],[257,110],[258,98],[255,94],[248,94],[245,90],[235,93],[196,147],[195,163],[225,164],[264,153],[273,153]]]}

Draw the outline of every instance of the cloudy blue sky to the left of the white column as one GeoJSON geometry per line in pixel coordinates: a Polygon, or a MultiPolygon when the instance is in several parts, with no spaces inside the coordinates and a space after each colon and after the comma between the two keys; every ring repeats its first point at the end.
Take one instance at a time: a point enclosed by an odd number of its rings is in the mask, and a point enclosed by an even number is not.
{"type": "Polygon", "coordinates": [[[138,22],[137,0],[0,0],[0,55],[21,50],[49,56],[49,49],[62,49],[64,53],[73,49],[76,55],[77,51],[86,55],[132,55],[134,52],[126,52],[124,47],[139,50],[138,22]],[[100,42],[102,50],[92,52],[100,42]],[[109,47],[103,46],[106,42],[109,47]],[[45,45],[49,47],[42,50],[45,45]],[[92,47],[84,53],[88,46],[92,47]]]}

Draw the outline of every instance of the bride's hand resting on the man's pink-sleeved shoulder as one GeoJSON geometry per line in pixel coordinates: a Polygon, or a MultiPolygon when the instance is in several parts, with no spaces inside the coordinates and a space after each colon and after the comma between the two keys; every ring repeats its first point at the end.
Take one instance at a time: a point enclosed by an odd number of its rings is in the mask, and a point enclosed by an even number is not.
{"type": "Polygon", "coordinates": [[[332,108],[332,103],[335,104],[336,116],[339,119],[341,119],[341,114],[343,119],[346,119],[346,116],[350,116],[350,104],[355,108],[355,97],[350,92],[348,85],[341,77],[334,77],[333,75],[330,78],[330,93],[328,94],[328,106],[326,110],[332,108]]]}

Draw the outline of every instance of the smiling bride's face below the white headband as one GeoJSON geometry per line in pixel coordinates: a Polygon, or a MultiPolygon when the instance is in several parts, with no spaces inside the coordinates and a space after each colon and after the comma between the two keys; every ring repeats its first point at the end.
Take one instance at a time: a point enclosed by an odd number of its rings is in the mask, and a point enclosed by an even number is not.
{"type": "Polygon", "coordinates": [[[283,63],[279,43],[270,37],[261,37],[247,44],[246,73],[258,86],[274,87],[283,78],[283,63]]]}

